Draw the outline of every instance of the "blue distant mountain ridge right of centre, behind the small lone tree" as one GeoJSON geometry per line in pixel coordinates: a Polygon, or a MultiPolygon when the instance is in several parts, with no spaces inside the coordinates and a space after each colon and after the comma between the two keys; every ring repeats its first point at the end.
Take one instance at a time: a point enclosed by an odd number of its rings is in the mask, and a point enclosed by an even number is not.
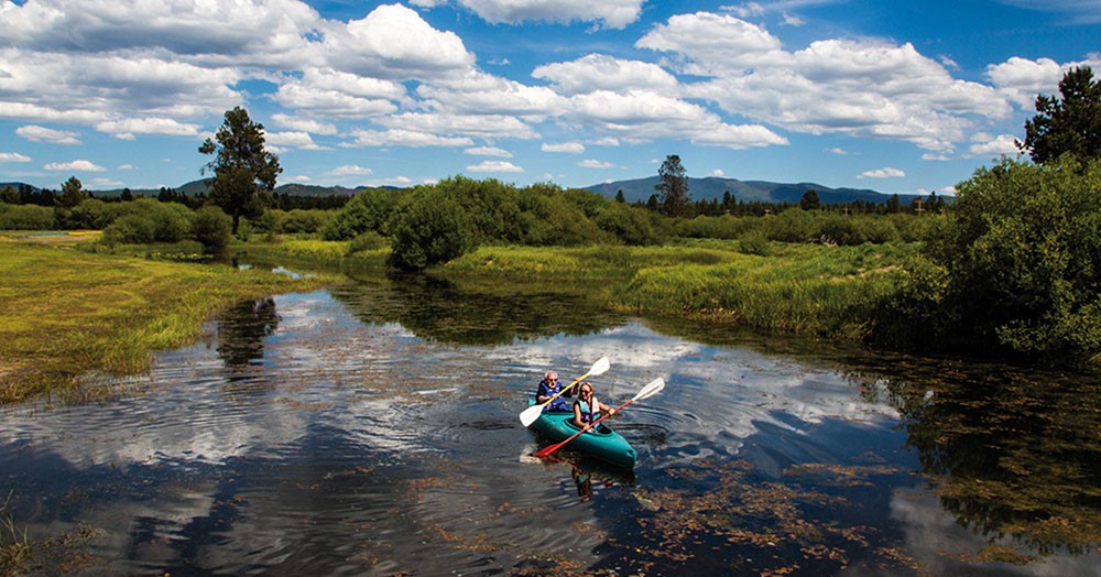
{"type": "MultiPolygon", "coordinates": [[[[620,190],[628,203],[645,203],[650,196],[657,193],[654,186],[661,181],[658,176],[636,178],[633,181],[617,181],[595,184],[587,190],[613,198],[620,190]]],[[[765,181],[739,181],[737,178],[688,178],[688,194],[693,200],[722,199],[729,192],[737,200],[744,203],[788,203],[796,204],[807,190],[818,194],[822,204],[841,204],[863,200],[865,203],[886,203],[892,195],[868,188],[830,188],[816,183],[770,183],[765,181]]],[[[902,204],[909,204],[922,195],[898,195],[902,204]]]]}

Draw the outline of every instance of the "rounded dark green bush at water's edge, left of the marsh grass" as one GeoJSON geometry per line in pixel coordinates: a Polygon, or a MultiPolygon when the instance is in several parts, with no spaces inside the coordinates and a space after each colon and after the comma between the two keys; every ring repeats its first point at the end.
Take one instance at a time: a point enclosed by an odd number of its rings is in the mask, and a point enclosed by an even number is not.
{"type": "Polygon", "coordinates": [[[390,262],[421,271],[473,249],[475,242],[462,205],[446,188],[426,188],[397,217],[390,262]]]}

